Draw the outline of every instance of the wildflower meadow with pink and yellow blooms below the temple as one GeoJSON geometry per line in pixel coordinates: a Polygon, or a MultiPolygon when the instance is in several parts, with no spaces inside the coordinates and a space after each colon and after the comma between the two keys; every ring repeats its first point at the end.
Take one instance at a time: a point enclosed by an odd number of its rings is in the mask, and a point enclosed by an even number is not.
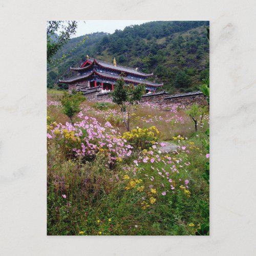
{"type": "Polygon", "coordinates": [[[127,133],[116,105],[84,102],[72,126],[60,96],[48,92],[48,234],[195,235],[209,202],[208,116],[196,134],[182,106],[138,106],[127,133]]]}

